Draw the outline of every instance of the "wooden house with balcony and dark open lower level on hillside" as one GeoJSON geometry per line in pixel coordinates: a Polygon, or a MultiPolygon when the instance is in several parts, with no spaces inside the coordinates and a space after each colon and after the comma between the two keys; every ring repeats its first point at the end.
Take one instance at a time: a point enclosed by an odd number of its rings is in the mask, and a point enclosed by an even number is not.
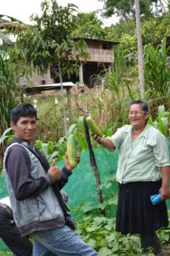
{"type": "MultiPolygon", "coordinates": [[[[71,81],[74,84],[84,84],[88,87],[99,85],[102,83],[105,70],[110,68],[114,63],[114,47],[119,44],[119,42],[92,38],[75,38],[74,40],[79,39],[83,39],[88,45],[89,57],[87,60],[81,60],[78,75],[74,73],[71,75],[70,79],[65,75],[63,82],[71,81]]],[[[50,73],[50,71],[44,76],[39,76],[37,73],[34,73],[29,82],[26,79],[21,80],[21,84],[23,85],[56,83],[59,83],[59,79],[54,78],[54,75],[50,73]]]]}

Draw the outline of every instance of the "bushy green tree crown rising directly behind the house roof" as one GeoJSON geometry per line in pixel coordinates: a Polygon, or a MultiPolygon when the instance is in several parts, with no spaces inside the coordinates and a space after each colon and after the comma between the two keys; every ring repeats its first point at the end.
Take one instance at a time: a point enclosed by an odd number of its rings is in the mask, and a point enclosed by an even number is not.
{"type": "Polygon", "coordinates": [[[105,39],[105,28],[95,12],[77,15],[77,26],[73,35],[79,38],[105,39]]]}

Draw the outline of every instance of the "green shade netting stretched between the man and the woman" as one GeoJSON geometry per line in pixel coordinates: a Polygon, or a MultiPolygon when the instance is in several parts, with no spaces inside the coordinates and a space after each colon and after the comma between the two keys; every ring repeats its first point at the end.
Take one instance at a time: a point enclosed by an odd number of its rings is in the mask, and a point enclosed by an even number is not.
{"type": "MultiPolygon", "coordinates": [[[[104,184],[109,180],[109,178],[111,178],[111,175],[116,174],[118,154],[116,151],[113,153],[105,148],[95,148],[94,155],[99,169],[100,182],[101,184],[104,184]]],[[[57,166],[62,167],[63,164],[64,162],[62,161],[59,162],[57,166]]],[[[116,191],[116,182],[113,184],[112,188],[113,187],[116,191]]],[[[71,209],[77,207],[78,205],[98,204],[95,175],[90,164],[88,151],[82,152],[81,162],[75,168],[71,177],[69,177],[69,182],[65,185],[64,190],[68,194],[68,204],[71,209]]],[[[103,190],[104,198],[109,196],[109,189],[103,190]]],[[[74,212],[72,211],[71,213],[74,216],[74,212]]]]}

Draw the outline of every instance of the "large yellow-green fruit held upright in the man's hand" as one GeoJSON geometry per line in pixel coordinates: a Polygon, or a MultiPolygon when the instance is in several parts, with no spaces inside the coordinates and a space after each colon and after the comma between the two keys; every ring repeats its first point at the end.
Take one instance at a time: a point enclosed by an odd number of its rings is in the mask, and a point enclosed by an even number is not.
{"type": "Polygon", "coordinates": [[[67,140],[67,153],[69,166],[75,168],[77,166],[78,142],[77,137],[71,134],[67,140]]]}

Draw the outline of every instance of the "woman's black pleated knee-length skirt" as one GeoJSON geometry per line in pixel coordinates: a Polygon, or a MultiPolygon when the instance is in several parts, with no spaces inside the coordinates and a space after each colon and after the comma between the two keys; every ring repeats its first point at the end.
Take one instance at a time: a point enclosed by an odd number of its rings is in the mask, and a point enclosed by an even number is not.
{"type": "Polygon", "coordinates": [[[150,195],[159,194],[161,180],[119,184],[116,231],[145,234],[167,227],[165,201],[152,205],[150,195]]]}

